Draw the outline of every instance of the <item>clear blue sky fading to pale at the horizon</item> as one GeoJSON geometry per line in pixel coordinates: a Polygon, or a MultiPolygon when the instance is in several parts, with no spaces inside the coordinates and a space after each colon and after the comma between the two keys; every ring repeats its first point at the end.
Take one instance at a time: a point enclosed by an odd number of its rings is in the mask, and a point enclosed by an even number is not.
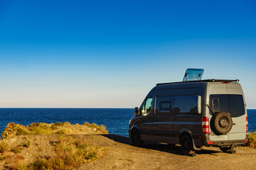
{"type": "Polygon", "coordinates": [[[256,1],[0,0],[1,108],[134,108],[189,67],[256,108],[255,64],[256,1]]]}

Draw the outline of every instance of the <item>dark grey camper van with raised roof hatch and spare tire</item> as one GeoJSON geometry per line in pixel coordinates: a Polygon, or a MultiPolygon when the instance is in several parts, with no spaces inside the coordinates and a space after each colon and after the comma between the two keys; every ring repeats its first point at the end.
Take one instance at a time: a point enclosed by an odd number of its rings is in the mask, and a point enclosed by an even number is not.
{"type": "Polygon", "coordinates": [[[247,110],[238,79],[201,80],[203,69],[187,69],[181,82],[161,83],[134,108],[132,144],[181,145],[184,154],[202,146],[235,153],[247,142],[247,110]]]}

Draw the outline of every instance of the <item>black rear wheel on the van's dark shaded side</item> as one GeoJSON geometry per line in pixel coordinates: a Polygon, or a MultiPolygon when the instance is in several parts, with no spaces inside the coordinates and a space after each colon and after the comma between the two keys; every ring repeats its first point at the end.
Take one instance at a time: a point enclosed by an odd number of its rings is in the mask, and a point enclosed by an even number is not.
{"type": "Polygon", "coordinates": [[[184,134],[181,136],[180,139],[180,143],[181,143],[181,150],[183,152],[183,154],[193,154],[193,141],[191,139],[191,136],[188,134],[184,134]]]}

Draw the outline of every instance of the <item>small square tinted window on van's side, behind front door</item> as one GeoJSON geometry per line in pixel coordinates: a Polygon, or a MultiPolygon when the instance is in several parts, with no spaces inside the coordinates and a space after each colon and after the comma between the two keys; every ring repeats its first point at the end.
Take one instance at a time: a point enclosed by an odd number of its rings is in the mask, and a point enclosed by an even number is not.
{"type": "Polygon", "coordinates": [[[168,116],[174,113],[175,96],[156,97],[156,116],[168,116]]]}

